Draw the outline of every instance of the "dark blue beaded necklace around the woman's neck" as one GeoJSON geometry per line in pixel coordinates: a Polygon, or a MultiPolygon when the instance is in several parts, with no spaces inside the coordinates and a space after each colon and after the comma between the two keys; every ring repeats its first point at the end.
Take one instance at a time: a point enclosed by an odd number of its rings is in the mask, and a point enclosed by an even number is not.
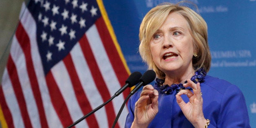
{"type": "MultiPolygon", "coordinates": [[[[199,70],[197,70],[195,72],[195,75],[193,75],[191,77],[191,80],[192,82],[194,83],[197,83],[197,82],[200,82],[200,83],[203,83],[205,82],[205,75],[206,75],[206,72],[203,68],[200,68],[199,70]]],[[[188,81],[185,81],[185,83],[187,83],[188,81]]],[[[192,90],[192,88],[190,87],[187,87],[185,88],[183,86],[183,84],[172,84],[171,86],[168,85],[168,84],[164,84],[164,79],[156,79],[156,82],[154,83],[154,89],[158,90],[159,93],[161,94],[172,94],[174,92],[174,90],[176,90],[176,92],[178,93],[180,90],[182,89],[189,89],[189,90],[192,90]]]]}

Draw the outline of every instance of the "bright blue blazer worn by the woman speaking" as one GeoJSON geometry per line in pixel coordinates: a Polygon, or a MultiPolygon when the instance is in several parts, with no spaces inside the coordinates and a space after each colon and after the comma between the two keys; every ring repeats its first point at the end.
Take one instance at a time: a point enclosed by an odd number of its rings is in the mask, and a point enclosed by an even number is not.
{"type": "MultiPolygon", "coordinates": [[[[203,114],[206,119],[210,119],[208,128],[251,128],[245,97],[237,86],[206,75],[205,82],[201,83],[201,92],[203,114]]],[[[130,128],[132,125],[135,102],[139,99],[140,93],[141,91],[135,93],[128,101],[129,113],[125,128],[130,128]]],[[[194,128],[183,115],[175,95],[176,93],[170,95],[159,93],[159,112],[148,128],[194,128]]],[[[186,95],[181,97],[184,102],[189,101],[186,95]]]]}

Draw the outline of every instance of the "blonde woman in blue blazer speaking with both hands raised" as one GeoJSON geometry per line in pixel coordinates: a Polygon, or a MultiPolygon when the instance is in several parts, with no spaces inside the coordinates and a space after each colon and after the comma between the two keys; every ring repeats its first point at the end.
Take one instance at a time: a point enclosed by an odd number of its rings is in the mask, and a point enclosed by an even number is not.
{"type": "Polygon", "coordinates": [[[250,128],[241,90],[206,75],[207,24],[179,4],[154,7],[141,23],[139,52],[157,79],[130,98],[126,128],[250,128]]]}

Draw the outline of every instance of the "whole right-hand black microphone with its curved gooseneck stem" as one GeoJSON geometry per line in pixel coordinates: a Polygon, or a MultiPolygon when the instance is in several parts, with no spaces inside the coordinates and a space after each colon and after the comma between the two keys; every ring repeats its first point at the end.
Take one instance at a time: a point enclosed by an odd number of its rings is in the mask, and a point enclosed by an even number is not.
{"type": "Polygon", "coordinates": [[[132,89],[132,91],[130,92],[130,94],[126,97],[126,99],[124,100],[124,103],[122,104],[118,114],[117,114],[117,117],[115,118],[115,121],[112,125],[112,128],[115,127],[115,124],[117,124],[117,120],[118,118],[120,117],[123,109],[124,109],[124,106],[127,102],[127,100],[135,93],[137,92],[137,90],[139,90],[139,88],[141,86],[145,86],[147,84],[149,84],[150,82],[152,82],[154,79],[156,78],[156,73],[153,71],[153,70],[148,70],[146,71],[142,77],[139,78],[139,84],[137,86],[135,86],[135,88],[132,89]]]}

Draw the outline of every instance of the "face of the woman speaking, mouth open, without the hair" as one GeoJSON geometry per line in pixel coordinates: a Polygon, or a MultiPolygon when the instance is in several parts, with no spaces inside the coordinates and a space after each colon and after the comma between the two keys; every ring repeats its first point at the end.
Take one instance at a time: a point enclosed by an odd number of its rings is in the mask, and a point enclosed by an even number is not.
{"type": "Polygon", "coordinates": [[[164,73],[191,71],[193,38],[188,22],[179,13],[170,13],[150,41],[156,66],[164,73]]]}

